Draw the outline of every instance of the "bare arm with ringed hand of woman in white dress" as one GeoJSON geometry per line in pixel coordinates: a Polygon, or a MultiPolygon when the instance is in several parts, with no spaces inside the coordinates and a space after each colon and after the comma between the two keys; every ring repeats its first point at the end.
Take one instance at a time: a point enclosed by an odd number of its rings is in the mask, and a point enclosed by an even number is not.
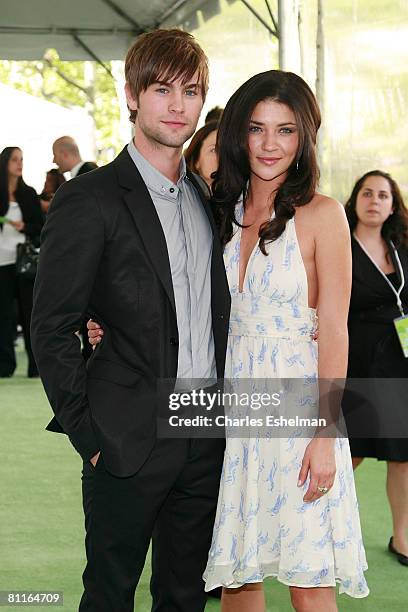
{"type": "MultiPolygon", "coordinates": [[[[339,384],[347,373],[348,333],[347,317],[351,293],[350,230],[344,209],[335,200],[321,197],[316,203],[315,264],[318,279],[320,415],[329,423],[336,420],[339,384]]],[[[341,385],[340,385],[341,389],[341,385]]],[[[329,434],[315,437],[308,445],[299,474],[302,486],[310,471],[309,488],[305,501],[321,497],[318,487],[330,489],[336,465],[334,437],[329,434]]]]}

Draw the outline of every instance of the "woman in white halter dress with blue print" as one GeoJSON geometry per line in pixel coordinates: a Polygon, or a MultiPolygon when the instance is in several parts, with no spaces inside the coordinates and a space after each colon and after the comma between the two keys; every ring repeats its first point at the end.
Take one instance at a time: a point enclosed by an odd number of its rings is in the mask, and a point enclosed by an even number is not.
{"type": "MultiPolygon", "coordinates": [[[[309,87],[281,71],[254,76],[225,108],[213,193],[233,382],[346,375],[350,238],[342,206],[316,193],[319,125],[309,87]]],[[[368,594],[366,567],[347,440],[227,438],[204,574],[206,590],[223,587],[223,612],[263,612],[267,576],[297,611],[333,612],[336,582],[368,594]]]]}

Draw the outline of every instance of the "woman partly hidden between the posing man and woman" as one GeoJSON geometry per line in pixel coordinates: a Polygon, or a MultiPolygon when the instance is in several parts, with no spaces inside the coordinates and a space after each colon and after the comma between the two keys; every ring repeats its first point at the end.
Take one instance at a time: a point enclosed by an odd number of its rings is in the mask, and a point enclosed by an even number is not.
{"type": "Polygon", "coordinates": [[[197,130],[184,153],[188,169],[201,176],[210,190],[218,165],[215,151],[217,127],[217,121],[209,121],[197,130]]]}

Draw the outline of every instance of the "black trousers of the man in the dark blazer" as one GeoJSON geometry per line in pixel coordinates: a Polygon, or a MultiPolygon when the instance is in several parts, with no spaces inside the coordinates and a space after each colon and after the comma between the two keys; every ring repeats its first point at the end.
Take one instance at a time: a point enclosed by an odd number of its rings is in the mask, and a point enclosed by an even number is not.
{"type": "MultiPolygon", "coordinates": [[[[135,442],[137,444],[137,442],[135,442]]],[[[152,612],[202,612],[224,440],[157,440],[129,478],[83,467],[87,565],[81,612],[133,612],[152,540],[152,612]]],[[[147,612],[138,607],[136,610],[147,612]]]]}

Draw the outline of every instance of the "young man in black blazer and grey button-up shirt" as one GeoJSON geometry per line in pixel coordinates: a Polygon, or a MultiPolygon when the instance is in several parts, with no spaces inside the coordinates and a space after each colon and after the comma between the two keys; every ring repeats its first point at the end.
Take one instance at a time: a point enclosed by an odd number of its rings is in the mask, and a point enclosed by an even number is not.
{"type": "Polygon", "coordinates": [[[156,388],[161,378],[224,371],[221,246],[182,157],[208,65],[191,35],[156,30],[129,50],[125,73],[134,140],[54,198],[33,344],[55,412],[48,427],[65,432],[84,461],[80,610],[133,610],[152,537],[152,610],[201,612],[224,444],[157,438],[156,388]],[[87,369],[74,334],[85,313],[105,332],[87,369]]]}

